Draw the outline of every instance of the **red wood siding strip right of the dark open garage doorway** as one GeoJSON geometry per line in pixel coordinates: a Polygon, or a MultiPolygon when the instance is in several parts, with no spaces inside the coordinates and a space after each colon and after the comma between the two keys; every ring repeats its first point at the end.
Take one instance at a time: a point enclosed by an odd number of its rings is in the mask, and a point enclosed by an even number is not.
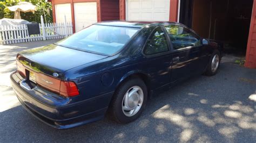
{"type": "Polygon", "coordinates": [[[256,1],[253,2],[251,26],[247,44],[245,67],[256,68],[256,1]]]}

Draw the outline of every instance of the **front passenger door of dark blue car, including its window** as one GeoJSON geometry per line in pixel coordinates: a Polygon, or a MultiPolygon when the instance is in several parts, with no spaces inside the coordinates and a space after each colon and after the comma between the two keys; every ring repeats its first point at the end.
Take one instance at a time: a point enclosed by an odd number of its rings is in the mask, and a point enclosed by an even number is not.
{"type": "Polygon", "coordinates": [[[181,25],[165,25],[165,28],[172,44],[171,82],[201,73],[200,37],[181,25]]]}

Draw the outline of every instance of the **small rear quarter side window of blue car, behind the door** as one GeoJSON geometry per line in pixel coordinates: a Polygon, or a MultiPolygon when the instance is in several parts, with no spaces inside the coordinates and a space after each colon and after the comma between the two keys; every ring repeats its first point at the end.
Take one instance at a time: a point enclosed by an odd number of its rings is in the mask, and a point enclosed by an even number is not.
{"type": "Polygon", "coordinates": [[[161,27],[157,27],[156,30],[150,35],[147,41],[144,53],[146,55],[158,54],[169,51],[167,40],[164,31],[161,27]]]}

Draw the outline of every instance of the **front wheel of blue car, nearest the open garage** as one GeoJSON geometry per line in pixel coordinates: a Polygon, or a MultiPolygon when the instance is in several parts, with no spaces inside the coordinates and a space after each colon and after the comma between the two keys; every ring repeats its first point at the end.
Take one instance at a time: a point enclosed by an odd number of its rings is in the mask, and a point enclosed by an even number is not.
{"type": "Polygon", "coordinates": [[[211,56],[211,60],[209,61],[207,69],[205,71],[205,75],[213,76],[217,74],[220,65],[220,60],[220,52],[218,50],[214,50],[211,56]]]}

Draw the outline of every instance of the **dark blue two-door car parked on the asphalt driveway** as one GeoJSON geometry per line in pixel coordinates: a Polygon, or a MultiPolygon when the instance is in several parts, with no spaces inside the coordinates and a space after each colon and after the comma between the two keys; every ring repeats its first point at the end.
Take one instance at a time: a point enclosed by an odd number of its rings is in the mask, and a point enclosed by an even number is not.
{"type": "Polygon", "coordinates": [[[23,107],[55,128],[136,120],[154,93],[214,75],[221,47],[178,23],[103,22],[17,54],[12,86],[23,107]]]}

